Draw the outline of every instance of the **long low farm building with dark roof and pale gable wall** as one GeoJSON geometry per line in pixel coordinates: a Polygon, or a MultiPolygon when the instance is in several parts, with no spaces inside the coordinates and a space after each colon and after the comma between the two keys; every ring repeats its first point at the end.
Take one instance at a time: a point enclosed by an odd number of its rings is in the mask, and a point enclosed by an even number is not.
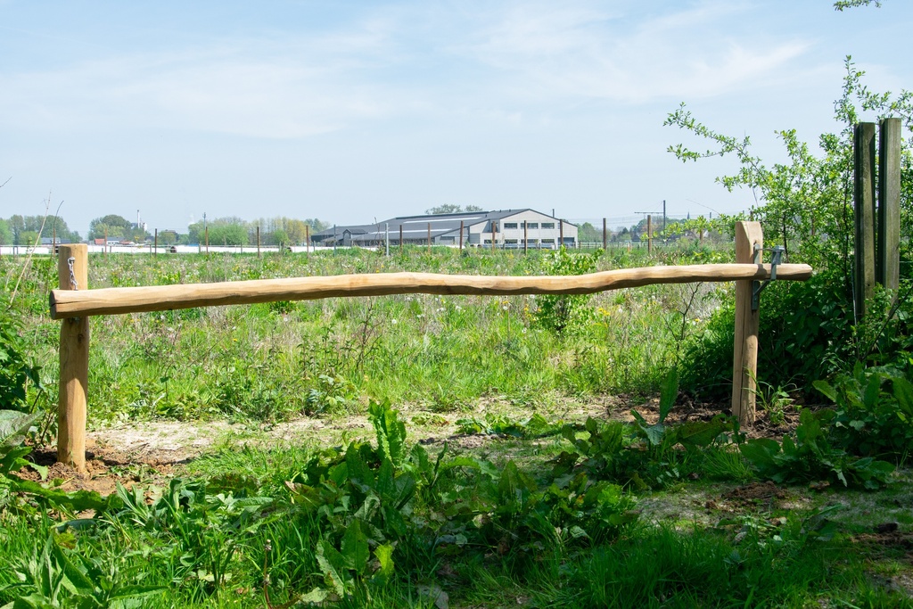
{"type": "Polygon", "coordinates": [[[463,244],[469,247],[549,248],[577,243],[577,226],[566,220],[542,214],[534,209],[508,209],[497,212],[463,212],[460,214],[403,215],[371,225],[334,226],[310,236],[316,245],[377,247],[387,235],[390,245],[400,245],[402,231],[405,245],[458,246],[460,226],[463,244]],[[529,243],[527,243],[529,241],[529,243]]]}

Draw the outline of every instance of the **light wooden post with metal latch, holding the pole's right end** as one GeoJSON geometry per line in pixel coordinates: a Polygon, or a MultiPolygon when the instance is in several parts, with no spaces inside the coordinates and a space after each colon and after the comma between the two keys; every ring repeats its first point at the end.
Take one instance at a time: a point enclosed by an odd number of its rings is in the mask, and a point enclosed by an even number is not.
{"type": "MultiPolygon", "coordinates": [[[[649,243],[649,241],[647,242],[649,243]]],[[[736,263],[754,262],[754,247],[764,247],[760,222],[736,223],[736,263]]],[[[751,310],[752,281],[736,281],[736,328],[732,346],[732,415],[743,427],[754,425],[758,381],[758,327],[761,316],[751,310]]]]}

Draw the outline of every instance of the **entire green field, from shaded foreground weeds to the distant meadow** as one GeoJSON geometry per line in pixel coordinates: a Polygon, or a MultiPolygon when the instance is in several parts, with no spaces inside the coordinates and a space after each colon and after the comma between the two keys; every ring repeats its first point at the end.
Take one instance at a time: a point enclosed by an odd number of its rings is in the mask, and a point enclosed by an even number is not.
{"type": "MultiPolygon", "coordinates": [[[[731,257],[95,255],[89,285],[731,257]]],[[[0,280],[40,367],[24,447],[0,426],[0,607],[913,606],[902,462],[841,456],[823,396],[763,370],[752,429],[719,379],[679,392],[731,284],[93,318],[82,477],[54,463],[55,261],[0,280]]]]}

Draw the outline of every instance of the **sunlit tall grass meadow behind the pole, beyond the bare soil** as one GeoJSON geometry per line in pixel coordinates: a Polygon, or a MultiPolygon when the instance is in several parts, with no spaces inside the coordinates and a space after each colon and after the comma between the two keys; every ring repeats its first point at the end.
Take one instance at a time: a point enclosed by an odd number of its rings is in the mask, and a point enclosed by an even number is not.
{"type": "MultiPolygon", "coordinates": [[[[310,255],[93,256],[93,288],[167,285],[343,273],[432,271],[530,275],[549,253],[462,255],[449,248],[339,250],[310,255]]],[[[674,250],[646,258],[613,251],[599,270],[687,263],[726,254],[674,250]]],[[[55,286],[50,259],[26,272],[16,311],[49,387],[57,375],[57,323],[47,314],[55,286]]],[[[0,259],[0,278],[16,271],[0,259]]],[[[8,283],[8,281],[7,281],[8,283]]],[[[558,336],[535,322],[534,296],[404,295],[274,302],[249,307],[174,310],[92,320],[91,421],[121,416],[178,419],[227,416],[281,419],[359,410],[369,397],[455,410],[483,395],[536,401],[541,396],[635,393],[656,389],[681,341],[700,331],[719,299],[708,285],[698,299],[681,286],[605,292],[586,305],[586,323],[558,336]],[[539,397],[537,397],[539,396],[539,397]]],[[[53,395],[55,392],[50,391],[53,395]]]]}

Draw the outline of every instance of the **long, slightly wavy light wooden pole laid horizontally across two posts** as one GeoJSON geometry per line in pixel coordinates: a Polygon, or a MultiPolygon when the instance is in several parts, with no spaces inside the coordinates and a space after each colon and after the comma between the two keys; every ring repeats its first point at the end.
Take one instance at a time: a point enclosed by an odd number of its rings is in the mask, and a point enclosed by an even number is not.
{"type": "MultiPolygon", "coordinates": [[[[777,267],[777,279],[803,281],[811,276],[812,268],[808,265],[783,264],[777,267]]],[[[50,294],[50,305],[51,317],[60,320],[83,315],[117,315],[276,300],[419,293],[483,296],[593,294],[608,289],[637,288],[656,283],[735,281],[770,277],[770,265],[755,264],[623,268],[589,275],[539,277],[366,273],[140,288],[54,289],[50,294]]]]}

